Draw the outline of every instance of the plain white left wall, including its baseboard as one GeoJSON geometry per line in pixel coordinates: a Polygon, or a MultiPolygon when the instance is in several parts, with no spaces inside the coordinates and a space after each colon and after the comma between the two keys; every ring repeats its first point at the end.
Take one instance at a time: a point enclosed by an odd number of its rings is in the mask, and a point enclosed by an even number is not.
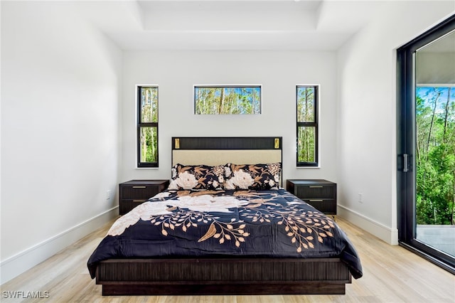
{"type": "Polygon", "coordinates": [[[117,213],[122,53],[71,5],[1,2],[1,283],[117,213]]]}

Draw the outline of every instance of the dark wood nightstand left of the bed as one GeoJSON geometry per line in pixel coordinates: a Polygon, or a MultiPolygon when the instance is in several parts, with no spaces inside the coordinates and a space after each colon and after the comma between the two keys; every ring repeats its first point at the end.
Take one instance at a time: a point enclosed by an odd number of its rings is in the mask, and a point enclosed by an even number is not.
{"type": "Polygon", "coordinates": [[[119,214],[128,213],[168,186],[169,180],[131,180],[119,184],[119,214]]]}

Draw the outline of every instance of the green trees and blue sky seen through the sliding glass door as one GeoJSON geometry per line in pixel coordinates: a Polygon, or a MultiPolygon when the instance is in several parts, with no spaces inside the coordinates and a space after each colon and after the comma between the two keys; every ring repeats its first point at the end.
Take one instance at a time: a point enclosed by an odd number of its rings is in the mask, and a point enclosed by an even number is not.
{"type": "Polygon", "coordinates": [[[455,87],[417,87],[416,220],[455,224],[455,87]]]}

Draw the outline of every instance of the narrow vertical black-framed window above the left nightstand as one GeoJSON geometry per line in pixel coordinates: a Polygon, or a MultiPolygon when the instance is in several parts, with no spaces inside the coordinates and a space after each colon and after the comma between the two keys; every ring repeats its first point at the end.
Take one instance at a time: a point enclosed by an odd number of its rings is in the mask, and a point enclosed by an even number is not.
{"type": "Polygon", "coordinates": [[[137,166],[158,167],[158,87],[137,87],[137,166]]]}

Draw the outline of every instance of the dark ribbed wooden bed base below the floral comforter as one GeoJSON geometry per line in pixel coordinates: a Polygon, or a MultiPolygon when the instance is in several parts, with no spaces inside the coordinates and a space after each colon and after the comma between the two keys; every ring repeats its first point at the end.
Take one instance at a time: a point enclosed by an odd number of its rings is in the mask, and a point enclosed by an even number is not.
{"type": "Polygon", "coordinates": [[[351,275],[338,258],[111,259],[96,282],[104,296],[345,294],[351,275]]]}

